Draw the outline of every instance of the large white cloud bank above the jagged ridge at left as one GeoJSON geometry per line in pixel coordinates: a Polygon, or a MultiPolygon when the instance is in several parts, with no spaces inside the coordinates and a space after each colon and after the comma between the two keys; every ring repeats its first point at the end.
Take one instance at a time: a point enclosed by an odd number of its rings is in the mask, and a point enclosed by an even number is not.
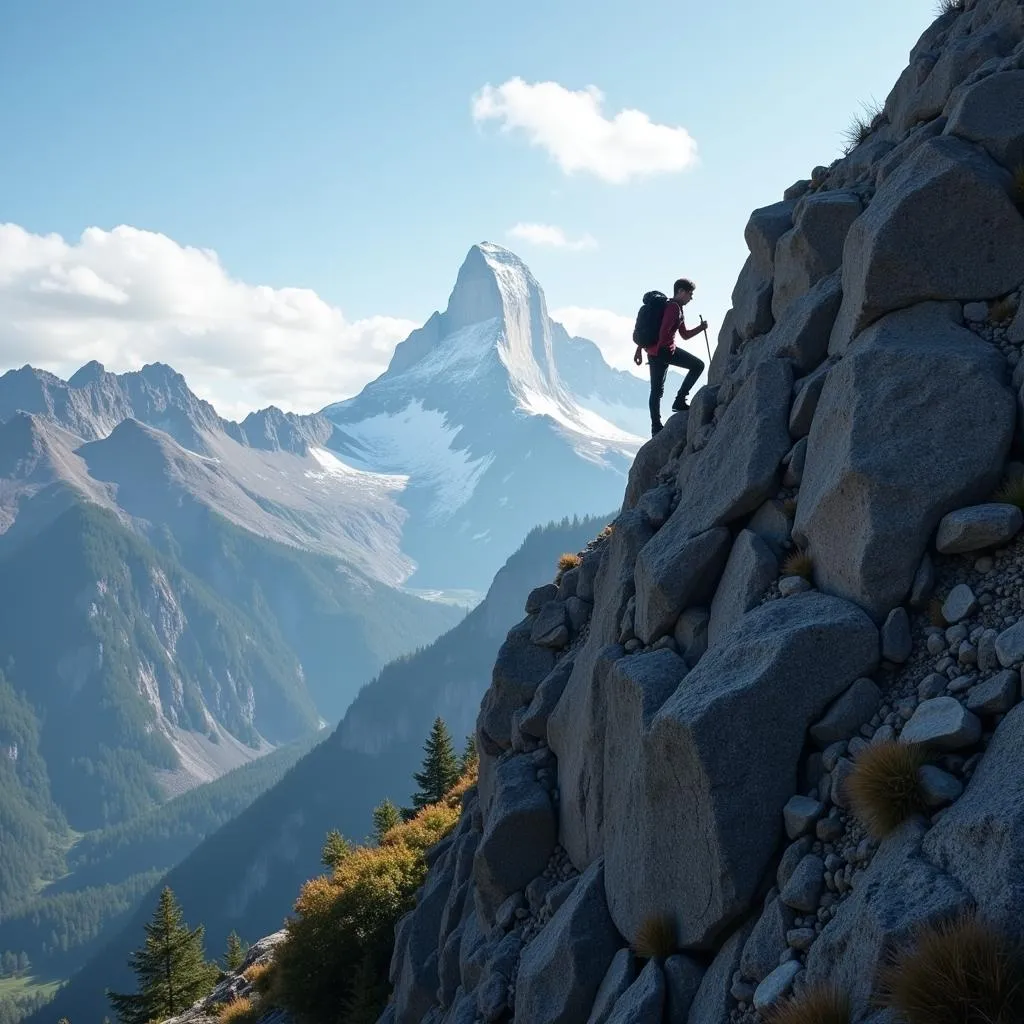
{"type": "Polygon", "coordinates": [[[382,373],[417,326],[350,323],[309,289],[247,285],[216,253],[153,231],[90,227],[69,243],[0,223],[0,367],[167,362],[222,416],[312,412],[382,373]]]}

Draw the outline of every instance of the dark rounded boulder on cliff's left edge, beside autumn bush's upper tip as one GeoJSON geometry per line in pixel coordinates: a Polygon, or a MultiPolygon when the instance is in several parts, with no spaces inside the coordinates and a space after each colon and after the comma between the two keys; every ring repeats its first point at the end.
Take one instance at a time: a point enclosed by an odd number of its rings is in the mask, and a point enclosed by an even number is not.
{"type": "Polygon", "coordinates": [[[557,839],[555,810],[537,780],[534,759],[520,755],[502,761],[473,861],[477,896],[488,918],[544,870],[557,839]]]}

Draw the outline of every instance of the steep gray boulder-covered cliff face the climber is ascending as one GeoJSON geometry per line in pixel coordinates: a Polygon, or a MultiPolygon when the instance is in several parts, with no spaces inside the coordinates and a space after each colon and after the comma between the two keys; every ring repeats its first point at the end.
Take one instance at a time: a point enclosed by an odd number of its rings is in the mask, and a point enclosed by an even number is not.
{"type": "Polygon", "coordinates": [[[529,595],[382,1024],[754,1022],[819,981],[890,1021],[918,928],[1020,936],[1024,3],[939,17],[863,136],[752,215],[710,385],[529,595]],[[900,750],[883,827],[857,780],[900,750]]]}

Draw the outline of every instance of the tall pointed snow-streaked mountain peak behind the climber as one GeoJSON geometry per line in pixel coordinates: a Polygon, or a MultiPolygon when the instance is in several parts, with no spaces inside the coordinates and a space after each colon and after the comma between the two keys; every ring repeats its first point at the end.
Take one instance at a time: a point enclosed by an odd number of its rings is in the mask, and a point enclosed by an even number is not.
{"type": "Polygon", "coordinates": [[[399,501],[413,581],[451,587],[484,585],[538,522],[614,507],[645,409],[643,382],[570,338],[525,263],[482,243],[444,312],[323,415],[346,463],[408,479],[399,501]],[[582,371],[580,391],[562,368],[582,371]]]}

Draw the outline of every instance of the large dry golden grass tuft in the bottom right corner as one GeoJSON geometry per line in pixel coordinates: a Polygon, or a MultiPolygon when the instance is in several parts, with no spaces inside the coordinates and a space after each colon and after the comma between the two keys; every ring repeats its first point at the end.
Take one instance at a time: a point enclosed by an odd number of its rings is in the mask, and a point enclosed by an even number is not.
{"type": "Polygon", "coordinates": [[[920,929],[882,969],[880,1001],[906,1024],[1019,1024],[1021,947],[974,911],[920,929]]]}

